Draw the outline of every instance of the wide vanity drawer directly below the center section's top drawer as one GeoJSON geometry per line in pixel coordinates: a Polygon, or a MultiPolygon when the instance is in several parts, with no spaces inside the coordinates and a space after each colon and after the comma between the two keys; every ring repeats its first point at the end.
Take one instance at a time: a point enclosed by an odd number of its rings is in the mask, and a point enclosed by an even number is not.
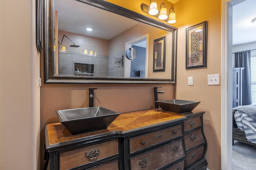
{"type": "Polygon", "coordinates": [[[130,158],[131,170],[155,170],[184,156],[182,139],[130,158]]]}

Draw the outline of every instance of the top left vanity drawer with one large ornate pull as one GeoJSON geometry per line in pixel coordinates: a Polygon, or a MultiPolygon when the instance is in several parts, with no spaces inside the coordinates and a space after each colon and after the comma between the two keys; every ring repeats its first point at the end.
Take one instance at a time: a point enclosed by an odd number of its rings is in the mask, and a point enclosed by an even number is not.
{"type": "Polygon", "coordinates": [[[118,140],[60,153],[60,170],[74,168],[118,154],[118,140]]]}

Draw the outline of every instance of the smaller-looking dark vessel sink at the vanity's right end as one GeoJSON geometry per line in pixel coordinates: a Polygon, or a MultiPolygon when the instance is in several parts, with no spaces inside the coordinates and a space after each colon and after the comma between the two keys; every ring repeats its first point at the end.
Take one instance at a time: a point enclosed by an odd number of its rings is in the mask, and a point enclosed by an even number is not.
{"type": "Polygon", "coordinates": [[[200,102],[189,100],[162,100],[155,101],[164,111],[171,111],[174,113],[186,113],[192,111],[200,102]]]}

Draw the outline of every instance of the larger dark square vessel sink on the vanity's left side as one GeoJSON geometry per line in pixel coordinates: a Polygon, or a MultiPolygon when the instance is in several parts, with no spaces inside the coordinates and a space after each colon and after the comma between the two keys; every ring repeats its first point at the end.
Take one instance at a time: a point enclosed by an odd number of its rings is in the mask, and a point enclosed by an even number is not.
{"type": "Polygon", "coordinates": [[[85,107],[56,111],[60,123],[72,135],[106,129],[120,113],[104,107],[85,107]]]}

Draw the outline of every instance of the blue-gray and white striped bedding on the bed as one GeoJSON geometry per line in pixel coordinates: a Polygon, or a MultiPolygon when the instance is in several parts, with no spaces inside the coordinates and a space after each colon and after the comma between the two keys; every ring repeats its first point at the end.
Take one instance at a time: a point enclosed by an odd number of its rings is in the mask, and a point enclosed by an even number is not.
{"type": "Polygon", "coordinates": [[[237,127],[245,132],[249,142],[256,144],[256,105],[234,107],[233,113],[237,127]]]}

